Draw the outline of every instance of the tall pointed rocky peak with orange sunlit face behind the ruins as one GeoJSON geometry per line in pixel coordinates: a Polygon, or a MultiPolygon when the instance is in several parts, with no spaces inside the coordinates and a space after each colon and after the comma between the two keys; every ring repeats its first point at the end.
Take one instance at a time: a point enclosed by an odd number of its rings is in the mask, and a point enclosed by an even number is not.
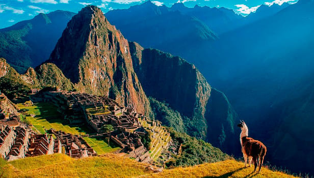
{"type": "Polygon", "coordinates": [[[106,95],[139,113],[151,113],[127,40],[95,6],[73,16],[47,62],[56,64],[81,92],[106,95]]]}

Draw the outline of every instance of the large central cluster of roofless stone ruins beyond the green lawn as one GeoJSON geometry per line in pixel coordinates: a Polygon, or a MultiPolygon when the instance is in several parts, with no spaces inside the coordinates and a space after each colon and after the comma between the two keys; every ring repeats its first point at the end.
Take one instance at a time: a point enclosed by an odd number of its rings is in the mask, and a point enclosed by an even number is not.
{"type": "MultiPolygon", "coordinates": [[[[160,122],[150,121],[146,116],[137,113],[133,108],[121,107],[108,97],[89,95],[86,93],[56,91],[39,92],[32,96],[33,101],[53,102],[58,111],[65,116],[70,124],[87,123],[97,136],[105,136],[102,127],[112,125],[114,128],[111,140],[122,148],[122,152],[138,161],[150,160],[149,153],[144,147],[140,134],[140,120],[150,126],[160,127],[160,122]]],[[[61,141],[62,142],[62,141],[61,141]]],[[[63,144],[63,143],[62,143],[63,144]]],[[[68,145],[69,150],[77,150],[77,144],[68,145]]]]}

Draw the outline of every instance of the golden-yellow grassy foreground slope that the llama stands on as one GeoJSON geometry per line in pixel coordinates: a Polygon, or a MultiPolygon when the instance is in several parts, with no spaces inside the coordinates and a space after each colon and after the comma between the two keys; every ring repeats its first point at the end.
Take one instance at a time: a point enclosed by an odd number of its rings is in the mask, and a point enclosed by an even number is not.
{"type": "Polygon", "coordinates": [[[112,154],[83,159],[54,154],[12,162],[0,160],[4,177],[294,177],[267,168],[262,168],[257,175],[250,174],[252,167],[245,169],[243,163],[234,160],[166,169],[160,173],[153,173],[147,166],[112,154]]]}

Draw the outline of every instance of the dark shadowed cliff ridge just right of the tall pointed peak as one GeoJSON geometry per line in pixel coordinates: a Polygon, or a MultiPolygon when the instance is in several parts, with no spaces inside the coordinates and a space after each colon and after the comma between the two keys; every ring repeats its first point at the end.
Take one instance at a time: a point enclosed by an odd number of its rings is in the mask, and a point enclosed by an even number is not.
{"type": "Polygon", "coordinates": [[[237,117],[226,96],[211,88],[203,75],[184,59],[130,42],[133,66],[147,96],[177,110],[187,133],[231,151],[237,117]]]}

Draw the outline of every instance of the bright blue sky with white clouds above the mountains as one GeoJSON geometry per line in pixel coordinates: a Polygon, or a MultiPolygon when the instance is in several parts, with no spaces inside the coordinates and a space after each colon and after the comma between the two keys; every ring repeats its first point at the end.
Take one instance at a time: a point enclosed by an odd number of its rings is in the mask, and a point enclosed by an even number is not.
{"type": "MultiPolygon", "coordinates": [[[[147,0],[0,0],[0,28],[11,26],[21,20],[34,18],[38,13],[49,13],[56,10],[79,12],[86,5],[96,5],[106,13],[112,9],[127,9],[142,4],[147,0]]],[[[255,12],[262,5],[271,6],[284,2],[295,3],[297,0],[151,0],[158,6],[171,7],[181,2],[187,7],[209,6],[225,7],[247,15],[255,12]]]]}

